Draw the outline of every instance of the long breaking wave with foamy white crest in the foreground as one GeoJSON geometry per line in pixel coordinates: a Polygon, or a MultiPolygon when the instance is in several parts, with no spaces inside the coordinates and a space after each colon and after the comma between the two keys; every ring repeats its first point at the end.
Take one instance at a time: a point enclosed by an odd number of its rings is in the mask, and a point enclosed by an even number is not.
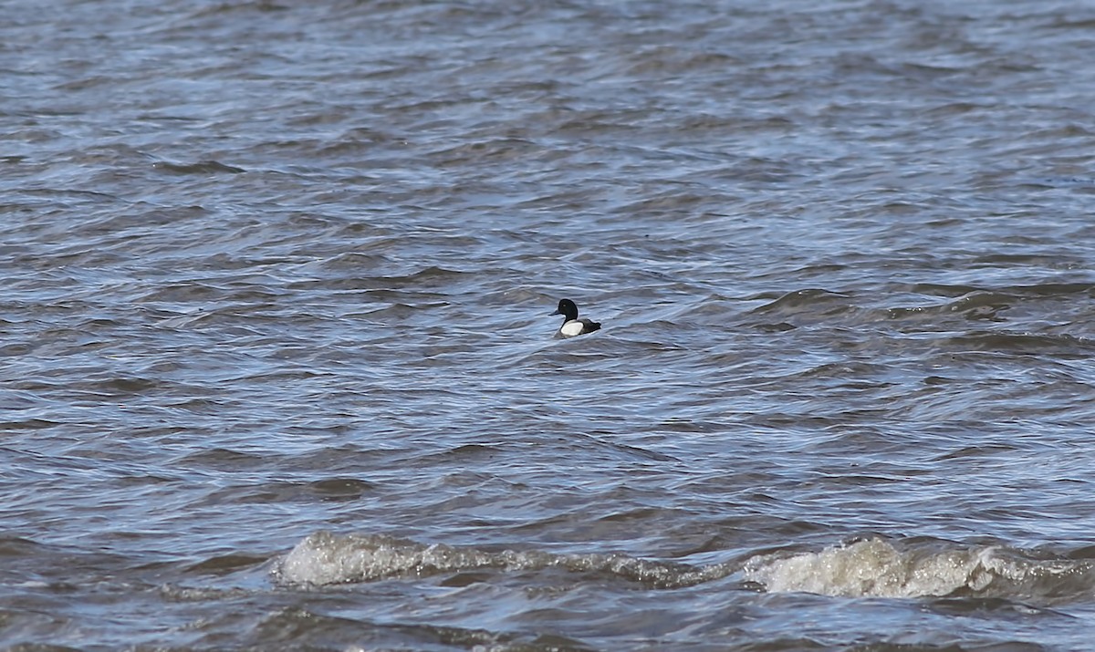
{"type": "Polygon", "coordinates": [[[726,578],[769,593],[839,597],[975,597],[1067,602],[1095,587],[1095,559],[1083,550],[1058,557],[1003,545],[964,546],[930,538],[872,537],[820,551],[754,555],[742,562],[688,564],[622,554],[491,551],[425,545],[382,535],[316,532],[274,568],[287,585],[323,586],[389,578],[426,578],[495,569],[502,572],[562,570],[615,578],[648,589],[679,589],[726,578]]]}

